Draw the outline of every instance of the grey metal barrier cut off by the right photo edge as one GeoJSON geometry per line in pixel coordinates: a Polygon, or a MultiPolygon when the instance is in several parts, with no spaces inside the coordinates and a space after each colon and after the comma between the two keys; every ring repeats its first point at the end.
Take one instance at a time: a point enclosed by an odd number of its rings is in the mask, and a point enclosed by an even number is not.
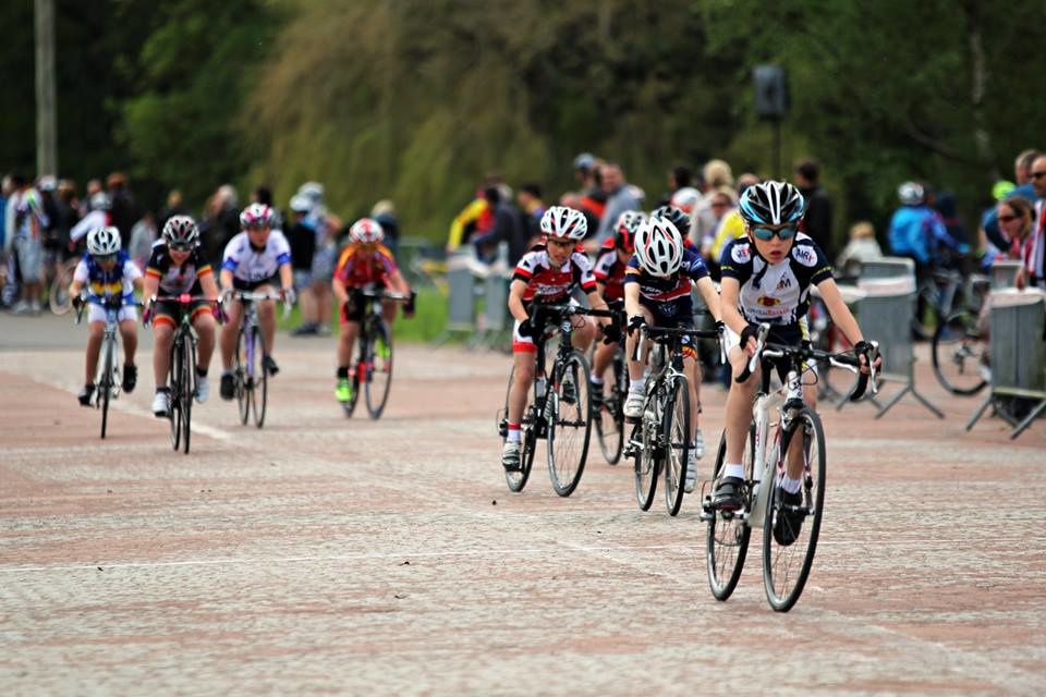
{"type": "Polygon", "coordinates": [[[1036,290],[1000,290],[992,293],[988,306],[988,355],[992,381],[988,399],[966,424],[973,428],[996,399],[1038,400],[1027,416],[1013,424],[1017,438],[1046,409],[1046,293],[1036,290]]]}

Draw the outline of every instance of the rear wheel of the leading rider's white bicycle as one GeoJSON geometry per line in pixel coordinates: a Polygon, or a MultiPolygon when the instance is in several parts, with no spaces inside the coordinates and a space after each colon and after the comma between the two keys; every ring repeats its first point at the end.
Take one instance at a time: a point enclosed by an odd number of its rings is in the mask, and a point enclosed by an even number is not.
{"type": "MultiPolygon", "coordinates": [[[[745,479],[750,484],[752,481],[752,457],[754,453],[755,425],[753,424],[749,428],[747,447],[741,461],[744,463],[745,479]]],[[[719,472],[722,469],[726,457],[727,435],[723,432],[719,439],[719,451],[711,469],[713,485],[719,479],[719,472]]],[[[745,491],[742,511],[750,511],[752,508],[750,491],[751,486],[745,491]]],[[[741,578],[741,571],[744,568],[744,560],[749,552],[752,527],[744,519],[744,516],[738,515],[735,511],[713,510],[710,500],[706,500],[705,511],[708,514],[708,529],[705,536],[705,566],[708,572],[708,588],[716,600],[723,601],[738,587],[738,580],[741,578]]]]}

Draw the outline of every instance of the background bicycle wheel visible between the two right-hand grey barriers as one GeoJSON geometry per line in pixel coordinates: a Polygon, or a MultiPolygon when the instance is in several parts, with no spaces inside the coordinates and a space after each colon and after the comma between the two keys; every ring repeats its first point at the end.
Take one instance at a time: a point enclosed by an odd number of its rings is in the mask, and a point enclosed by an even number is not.
{"type": "Polygon", "coordinates": [[[931,358],[941,387],[960,396],[976,394],[988,384],[981,375],[987,339],[977,329],[972,313],[956,313],[937,325],[931,358]]]}

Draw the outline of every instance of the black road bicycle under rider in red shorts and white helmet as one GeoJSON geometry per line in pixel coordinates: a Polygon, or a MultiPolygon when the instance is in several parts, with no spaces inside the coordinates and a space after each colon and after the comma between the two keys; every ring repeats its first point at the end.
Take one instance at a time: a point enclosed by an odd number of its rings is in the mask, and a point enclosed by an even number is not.
{"type": "MultiPolygon", "coordinates": [[[[579,315],[613,317],[610,310],[589,309],[576,305],[544,305],[535,309],[532,321],[540,328],[535,337],[536,367],[533,396],[527,398],[520,424],[520,468],[506,470],[504,478],[512,491],[522,491],[531,475],[537,441],[546,441],[548,475],[552,489],[569,497],[577,488],[585,470],[588,441],[592,436],[592,406],[588,394],[588,362],[570,342],[574,330],[573,318],[579,315]],[[545,369],[546,342],[559,330],[559,350],[552,360],[551,380],[545,369]]],[[[509,375],[504,408],[498,415],[498,432],[502,439],[509,433],[509,394],[515,368],[509,375]]]]}

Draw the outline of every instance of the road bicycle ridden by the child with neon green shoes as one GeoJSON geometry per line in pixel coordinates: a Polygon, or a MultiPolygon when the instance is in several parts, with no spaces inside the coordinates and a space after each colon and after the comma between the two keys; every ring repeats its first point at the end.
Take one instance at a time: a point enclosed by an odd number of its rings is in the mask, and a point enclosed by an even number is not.
{"type": "Polygon", "coordinates": [[[342,403],[345,416],[352,416],[363,386],[370,418],[381,417],[392,387],[392,331],[381,314],[382,299],[410,302],[410,294],[362,291],[355,297],[363,306],[363,321],[356,337],[355,357],[349,367],[352,396],[342,403]]]}

